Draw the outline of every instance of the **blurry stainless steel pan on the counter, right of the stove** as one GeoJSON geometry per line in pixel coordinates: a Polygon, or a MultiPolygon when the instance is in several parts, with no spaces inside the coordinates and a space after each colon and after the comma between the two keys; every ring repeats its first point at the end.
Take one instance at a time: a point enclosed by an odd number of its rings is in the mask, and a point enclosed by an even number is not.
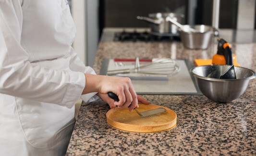
{"type": "Polygon", "coordinates": [[[215,31],[215,28],[208,25],[184,25],[183,30],[179,29],[183,46],[189,49],[207,49],[215,31]],[[191,32],[189,28],[194,28],[196,32],[191,32]]]}

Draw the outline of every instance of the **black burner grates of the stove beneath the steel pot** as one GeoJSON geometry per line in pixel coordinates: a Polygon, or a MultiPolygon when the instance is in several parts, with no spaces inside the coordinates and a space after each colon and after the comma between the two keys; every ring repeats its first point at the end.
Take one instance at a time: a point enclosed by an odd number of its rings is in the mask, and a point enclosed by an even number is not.
{"type": "Polygon", "coordinates": [[[137,42],[137,41],[142,41],[142,42],[152,42],[152,41],[180,41],[180,37],[178,36],[157,36],[157,35],[153,35],[147,31],[144,32],[126,32],[126,31],[122,31],[122,32],[116,32],[114,35],[114,41],[118,42],[137,42]]]}

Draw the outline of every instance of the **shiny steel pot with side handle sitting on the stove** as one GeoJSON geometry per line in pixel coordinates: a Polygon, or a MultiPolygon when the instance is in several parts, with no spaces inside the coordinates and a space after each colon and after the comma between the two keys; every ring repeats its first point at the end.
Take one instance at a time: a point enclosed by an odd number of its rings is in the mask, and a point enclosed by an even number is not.
{"type": "Polygon", "coordinates": [[[150,13],[148,17],[137,16],[139,20],[149,22],[151,33],[158,36],[178,36],[178,27],[166,21],[166,17],[171,17],[175,21],[182,23],[183,14],[171,12],[150,13]]]}

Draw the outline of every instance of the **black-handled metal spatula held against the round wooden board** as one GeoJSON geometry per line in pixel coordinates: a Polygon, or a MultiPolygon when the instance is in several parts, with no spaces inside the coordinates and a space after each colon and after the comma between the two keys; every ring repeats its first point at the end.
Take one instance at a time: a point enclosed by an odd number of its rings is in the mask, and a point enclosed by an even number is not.
{"type": "MultiPolygon", "coordinates": [[[[108,93],[108,96],[109,96],[110,98],[112,98],[113,100],[115,100],[115,101],[119,101],[118,96],[115,95],[113,92],[109,92],[109,93],[108,93]]],[[[128,106],[128,107],[129,107],[129,106],[128,106]]],[[[156,115],[156,114],[159,114],[159,113],[162,113],[162,112],[165,112],[165,111],[166,111],[165,108],[150,109],[150,110],[146,110],[146,111],[143,111],[143,112],[139,112],[136,108],[134,108],[134,110],[135,110],[136,113],[139,114],[141,117],[148,117],[148,116],[156,115]]]]}

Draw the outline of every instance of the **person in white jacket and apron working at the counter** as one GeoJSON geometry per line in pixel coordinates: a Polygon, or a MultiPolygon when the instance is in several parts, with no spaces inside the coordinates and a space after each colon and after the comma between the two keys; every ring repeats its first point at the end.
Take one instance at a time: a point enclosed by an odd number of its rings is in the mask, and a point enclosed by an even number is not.
{"type": "Polygon", "coordinates": [[[74,37],[66,0],[0,0],[0,156],[64,155],[81,95],[130,111],[147,103],[130,79],[85,67],[74,37]]]}

